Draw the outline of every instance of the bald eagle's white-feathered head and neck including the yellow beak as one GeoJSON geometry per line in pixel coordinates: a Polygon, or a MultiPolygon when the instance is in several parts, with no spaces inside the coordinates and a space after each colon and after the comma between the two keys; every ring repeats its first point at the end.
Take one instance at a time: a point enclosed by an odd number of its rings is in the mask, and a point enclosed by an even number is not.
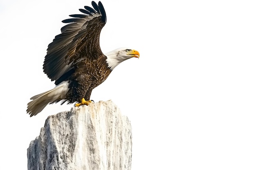
{"type": "Polygon", "coordinates": [[[108,67],[113,70],[118,64],[132,57],[139,58],[139,52],[128,48],[119,48],[105,54],[108,67]]]}

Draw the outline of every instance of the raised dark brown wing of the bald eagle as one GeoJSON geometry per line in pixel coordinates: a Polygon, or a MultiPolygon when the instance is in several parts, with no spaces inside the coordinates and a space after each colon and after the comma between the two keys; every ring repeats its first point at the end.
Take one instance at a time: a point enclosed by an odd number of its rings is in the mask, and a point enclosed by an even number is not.
{"type": "MultiPolygon", "coordinates": [[[[92,2],[91,7],[80,9],[84,14],[74,14],[64,23],[69,23],[61,28],[61,34],[56,35],[49,44],[47,55],[43,64],[44,72],[52,80],[62,79],[67,73],[72,74],[76,65],[85,58],[102,55],[99,46],[101,29],[106,24],[106,13],[99,2],[99,6],[92,2]]],[[[55,84],[59,84],[56,81],[55,84]]]]}

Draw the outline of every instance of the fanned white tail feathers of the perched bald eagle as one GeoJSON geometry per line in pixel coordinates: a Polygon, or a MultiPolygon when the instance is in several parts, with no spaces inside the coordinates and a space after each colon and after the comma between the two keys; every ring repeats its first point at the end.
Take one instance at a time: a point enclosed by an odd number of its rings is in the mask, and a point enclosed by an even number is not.
{"type": "Polygon", "coordinates": [[[65,99],[68,90],[68,82],[62,82],[52,90],[31,97],[32,101],[27,104],[27,113],[30,117],[37,115],[47,104],[65,99]]]}

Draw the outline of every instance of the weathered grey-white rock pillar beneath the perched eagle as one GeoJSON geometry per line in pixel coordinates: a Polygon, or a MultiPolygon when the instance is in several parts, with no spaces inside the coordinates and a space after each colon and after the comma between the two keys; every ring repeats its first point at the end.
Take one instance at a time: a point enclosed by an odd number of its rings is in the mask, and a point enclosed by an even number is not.
{"type": "Polygon", "coordinates": [[[27,158],[28,170],[130,170],[130,121],[112,101],[49,116],[27,158]]]}

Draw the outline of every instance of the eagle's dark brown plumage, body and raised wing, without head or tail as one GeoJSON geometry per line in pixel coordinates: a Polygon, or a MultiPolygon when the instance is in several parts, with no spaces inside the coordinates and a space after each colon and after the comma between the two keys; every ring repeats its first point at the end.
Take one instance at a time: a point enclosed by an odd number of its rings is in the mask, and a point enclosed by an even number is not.
{"type": "MultiPolygon", "coordinates": [[[[49,44],[44,72],[58,85],[68,81],[70,90],[64,102],[74,103],[82,98],[89,100],[92,89],[99,86],[110,74],[107,57],[101,52],[99,35],[106,24],[106,13],[101,3],[92,2],[97,11],[85,7],[87,15],[70,15],[76,18],[64,20],[70,23],[61,29],[49,44]],[[72,41],[71,41],[72,40],[72,41]]],[[[84,12],[84,9],[80,9],[84,12]]]]}

